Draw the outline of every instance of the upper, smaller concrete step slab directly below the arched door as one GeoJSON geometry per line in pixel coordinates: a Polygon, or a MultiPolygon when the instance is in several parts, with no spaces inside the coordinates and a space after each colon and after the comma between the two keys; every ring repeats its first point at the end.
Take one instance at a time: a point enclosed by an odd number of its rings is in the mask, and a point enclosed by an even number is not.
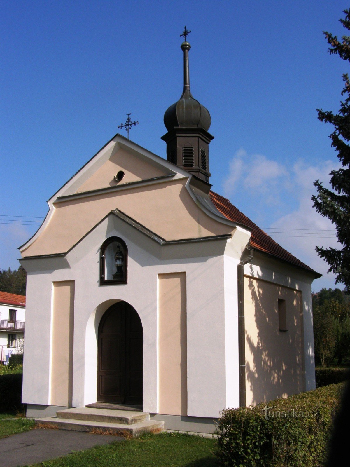
{"type": "Polygon", "coordinates": [[[149,420],[148,412],[135,410],[94,409],[91,407],[73,407],[57,410],[57,418],[85,420],[91,422],[123,423],[132,425],[149,420]]]}

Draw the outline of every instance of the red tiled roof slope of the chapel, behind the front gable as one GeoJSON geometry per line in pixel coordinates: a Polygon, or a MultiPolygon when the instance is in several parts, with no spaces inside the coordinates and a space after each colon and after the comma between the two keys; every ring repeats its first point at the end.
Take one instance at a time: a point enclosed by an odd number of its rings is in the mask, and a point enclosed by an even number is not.
{"type": "Polygon", "coordinates": [[[280,258],[281,260],[290,262],[295,266],[299,266],[303,269],[314,272],[317,277],[321,276],[319,273],[314,271],[314,269],[311,269],[309,266],[298,260],[298,258],[295,258],[295,256],[291,255],[287,250],[282,248],[271,237],[269,237],[267,233],[254,224],[252,220],[248,219],[247,216],[240,212],[237,207],[231,205],[227,198],[218,195],[214,191],[210,191],[209,195],[215,207],[218,211],[221,212],[221,214],[233,222],[237,222],[238,224],[242,224],[248,227],[248,229],[252,231],[252,236],[250,239],[251,247],[262,251],[263,253],[267,253],[268,255],[273,255],[277,258],[280,258]]]}

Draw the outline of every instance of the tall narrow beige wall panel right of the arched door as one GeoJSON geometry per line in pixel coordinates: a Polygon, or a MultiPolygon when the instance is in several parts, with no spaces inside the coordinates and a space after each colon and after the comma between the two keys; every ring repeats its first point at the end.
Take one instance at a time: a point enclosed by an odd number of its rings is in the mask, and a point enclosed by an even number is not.
{"type": "Polygon", "coordinates": [[[159,409],[187,415],[186,273],[158,275],[159,409]]]}

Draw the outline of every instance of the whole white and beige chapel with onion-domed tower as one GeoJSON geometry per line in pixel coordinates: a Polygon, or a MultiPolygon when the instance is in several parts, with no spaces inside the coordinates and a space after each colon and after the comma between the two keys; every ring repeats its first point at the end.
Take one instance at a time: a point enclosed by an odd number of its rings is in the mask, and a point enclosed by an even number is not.
{"type": "Polygon", "coordinates": [[[20,248],[28,416],[132,404],[165,428],[212,432],[225,407],[315,388],[320,275],[211,191],[210,114],[181,47],[167,158],[117,134],[20,248]]]}

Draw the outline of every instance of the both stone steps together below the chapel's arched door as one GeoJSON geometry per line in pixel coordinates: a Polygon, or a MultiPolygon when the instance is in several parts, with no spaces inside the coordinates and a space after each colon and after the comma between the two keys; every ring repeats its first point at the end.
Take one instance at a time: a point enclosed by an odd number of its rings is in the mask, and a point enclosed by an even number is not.
{"type": "Polygon", "coordinates": [[[56,417],[35,419],[35,424],[52,426],[63,430],[78,432],[100,431],[107,433],[130,433],[139,436],[143,433],[158,432],[164,422],[149,419],[148,412],[136,410],[95,409],[91,407],[74,407],[57,410],[56,417]]]}

